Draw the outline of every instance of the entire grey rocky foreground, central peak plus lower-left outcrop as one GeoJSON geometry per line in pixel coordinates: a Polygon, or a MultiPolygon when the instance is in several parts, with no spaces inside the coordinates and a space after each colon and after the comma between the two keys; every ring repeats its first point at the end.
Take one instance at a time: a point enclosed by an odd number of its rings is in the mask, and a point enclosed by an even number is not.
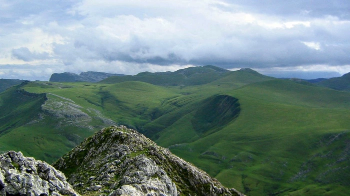
{"type": "Polygon", "coordinates": [[[53,166],[0,155],[0,196],[243,196],[123,126],[95,133],[53,166]]]}

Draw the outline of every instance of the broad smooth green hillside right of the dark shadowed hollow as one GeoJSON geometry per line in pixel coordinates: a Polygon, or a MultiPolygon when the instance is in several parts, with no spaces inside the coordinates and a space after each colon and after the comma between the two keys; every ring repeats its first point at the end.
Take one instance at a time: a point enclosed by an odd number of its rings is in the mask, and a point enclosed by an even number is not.
{"type": "MultiPolygon", "coordinates": [[[[186,144],[170,146],[172,152],[247,195],[347,194],[349,93],[270,80],[227,94],[239,101],[238,118],[198,140],[179,139],[186,144]]],[[[162,137],[157,142],[168,144],[162,137]]]]}

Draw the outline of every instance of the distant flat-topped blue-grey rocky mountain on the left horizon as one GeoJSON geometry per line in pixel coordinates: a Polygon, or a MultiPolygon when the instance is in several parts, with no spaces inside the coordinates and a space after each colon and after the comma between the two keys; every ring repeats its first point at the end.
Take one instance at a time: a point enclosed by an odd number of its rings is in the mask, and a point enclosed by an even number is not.
{"type": "Polygon", "coordinates": [[[103,73],[95,71],[81,72],[79,75],[75,73],[53,73],[50,82],[98,82],[110,76],[124,76],[122,74],[103,73]]]}

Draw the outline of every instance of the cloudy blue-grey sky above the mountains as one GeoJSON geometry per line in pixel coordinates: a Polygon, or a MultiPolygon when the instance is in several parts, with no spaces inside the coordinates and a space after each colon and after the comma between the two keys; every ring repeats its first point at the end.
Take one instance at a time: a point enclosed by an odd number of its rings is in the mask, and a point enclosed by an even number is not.
{"type": "Polygon", "coordinates": [[[350,72],[349,0],[0,0],[0,78],[214,65],[350,72]]]}

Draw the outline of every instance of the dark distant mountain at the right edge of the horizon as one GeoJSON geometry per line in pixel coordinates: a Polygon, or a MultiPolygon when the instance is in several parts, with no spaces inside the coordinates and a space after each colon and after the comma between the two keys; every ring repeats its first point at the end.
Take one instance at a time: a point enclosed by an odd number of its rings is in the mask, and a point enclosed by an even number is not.
{"type": "Polygon", "coordinates": [[[350,91],[350,72],[341,77],[329,78],[317,83],[319,86],[332,88],[335,90],[350,91]]]}

